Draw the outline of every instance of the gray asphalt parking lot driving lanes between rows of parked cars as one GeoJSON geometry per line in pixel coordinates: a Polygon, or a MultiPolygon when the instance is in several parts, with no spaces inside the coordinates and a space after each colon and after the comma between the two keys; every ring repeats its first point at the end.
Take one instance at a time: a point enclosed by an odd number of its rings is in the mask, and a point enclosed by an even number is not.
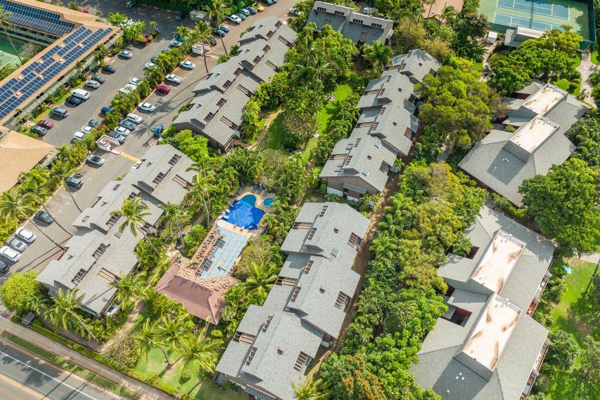
{"type": "MultiPolygon", "coordinates": [[[[126,8],[126,0],[119,1],[83,1],[80,2],[81,7],[85,7],[90,13],[95,13],[96,10],[101,10],[104,16],[107,16],[109,12],[127,14],[134,20],[143,20],[146,23],[156,21],[158,23],[158,29],[161,34],[158,39],[150,43],[148,46],[141,44],[131,44],[127,47],[133,53],[131,59],[122,59],[119,57],[112,57],[107,59],[107,64],[113,65],[116,68],[115,73],[98,73],[104,78],[106,82],[103,83],[97,89],[83,88],[90,93],[90,98],[84,101],[79,106],[71,106],[70,104],[62,104],[62,107],[69,110],[70,115],[65,119],[61,119],[54,116],[49,116],[47,119],[55,123],[55,126],[49,130],[44,137],[44,142],[50,143],[55,146],[61,146],[65,143],[71,143],[73,140],[73,134],[76,131],[80,131],[81,128],[87,125],[90,119],[101,120],[100,109],[104,106],[109,106],[110,101],[118,92],[119,88],[122,88],[131,77],[143,77],[143,67],[146,62],[150,62],[152,56],[160,54],[162,49],[169,47],[170,41],[173,39],[176,33],[176,27],[180,25],[193,27],[193,21],[185,19],[182,22],[175,20],[176,12],[164,10],[157,7],[139,4],[135,8],[126,8]]],[[[248,17],[239,25],[228,23],[230,25],[230,32],[224,37],[224,42],[229,50],[230,47],[237,43],[241,32],[245,31],[254,21],[266,16],[279,16],[282,19],[287,19],[287,11],[290,7],[295,4],[294,0],[279,0],[277,4],[270,7],[265,6],[265,11],[258,13],[254,16],[248,17]]],[[[208,69],[217,65],[217,57],[222,55],[223,45],[221,41],[218,41],[217,46],[211,49],[209,57],[207,58],[208,69]]],[[[179,107],[187,104],[190,98],[193,97],[192,89],[197,85],[199,80],[206,77],[206,70],[204,67],[203,56],[191,55],[190,61],[196,64],[196,68],[193,70],[185,70],[177,68],[173,71],[174,74],[181,76],[183,82],[179,85],[167,82],[165,85],[169,86],[171,92],[169,94],[160,94],[153,92],[146,102],[154,104],[156,110],[152,113],[142,112],[141,110],[134,111],[140,115],[144,120],[138,127],[129,134],[124,145],[119,146],[119,151],[122,151],[121,155],[110,154],[102,150],[95,151],[94,154],[100,155],[106,159],[101,167],[94,167],[88,164],[84,164],[82,167],[82,181],[84,185],[79,190],[73,191],[73,197],[80,209],[90,206],[96,199],[96,194],[117,176],[121,176],[126,173],[133,165],[137,158],[147,151],[149,146],[154,146],[157,140],[152,137],[152,127],[159,124],[169,125],[172,122],[173,116],[179,112],[179,107]]],[[[73,221],[79,215],[79,210],[76,205],[73,204],[70,195],[63,189],[59,189],[52,199],[46,203],[47,209],[52,213],[56,220],[67,230],[75,233],[76,228],[71,226],[73,221]]],[[[35,222],[38,225],[38,222],[35,222]]],[[[31,228],[35,234],[37,234],[37,240],[29,245],[29,247],[23,252],[22,258],[11,267],[11,272],[19,271],[24,272],[26,270],[34,269],[38,272],[42,270],[50,260],[57,258],[61,254],[61,249],[53,245],[50,240],[46,239],[43,234],[38,230],[42,228],[61,245],[64,245],[70,238],[70,235],[65,233],[56,223],[51,224],[47,227],[38,225],[32,227],[31,222],[26,221],[23,224],[26,227],[31,228]]],[[[4,275],[0,278],[0,282],[6,278],[4,275]]]]}

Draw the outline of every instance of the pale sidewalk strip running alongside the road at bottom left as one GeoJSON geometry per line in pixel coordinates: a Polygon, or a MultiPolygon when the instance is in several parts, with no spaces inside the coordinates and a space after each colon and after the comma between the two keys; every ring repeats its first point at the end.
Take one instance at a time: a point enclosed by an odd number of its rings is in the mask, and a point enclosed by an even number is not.
{"type": "Polygon", "coordinates": [[[83,356],[83,354],[80,354],[79,352],[58,342],[52,341],[46,338],[46,336],[35,332],[34,330],[14,324],[5,317],[0,317],[0,332],[2,331],[6,331],[11,333],[11,335],[18,336],[19,338],[29,341],[32,344],[49,351],[50,353],[56,354],[65,360],[69,360],[76,365],[88,369],[100,377],[120,384],[121,386],[126,387],[135,393],[139,393],[142,396],[140,399],[173,400],[172,396],[167,395],[155,387],[142,383],[130,377],[129,375],[121,374],[121,372],[115,371],[114,369],[109,368],[103,363],[97,362],[94,359],[83,356]]]}

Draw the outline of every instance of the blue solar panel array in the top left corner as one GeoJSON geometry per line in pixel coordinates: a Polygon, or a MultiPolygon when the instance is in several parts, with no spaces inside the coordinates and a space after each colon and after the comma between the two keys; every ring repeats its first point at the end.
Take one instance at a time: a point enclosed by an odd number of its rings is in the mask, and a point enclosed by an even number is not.
{"type": "Polygon", "coordinates": [[[11,13],[8,19],[10,22],[29,26],[37,31],[62,36],[75,28],[74,23],[61,21],[61,15],[58,13],[8,0],[0,0],[0,5],[4,7],[4,11],[11,13]]]}

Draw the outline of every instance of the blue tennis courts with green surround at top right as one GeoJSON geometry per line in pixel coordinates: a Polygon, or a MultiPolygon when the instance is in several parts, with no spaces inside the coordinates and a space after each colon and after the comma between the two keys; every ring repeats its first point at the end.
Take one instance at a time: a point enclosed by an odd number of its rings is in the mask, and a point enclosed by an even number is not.
{"type": "Polygon", "coordinates": [[[491,29],[506,32],[508,28],[560,29],[571,25],[572,32],[583,37],[582,48],[595,42],[593,29],[593,0],[481,0],[479,12],[492,22],[491,29]]]}

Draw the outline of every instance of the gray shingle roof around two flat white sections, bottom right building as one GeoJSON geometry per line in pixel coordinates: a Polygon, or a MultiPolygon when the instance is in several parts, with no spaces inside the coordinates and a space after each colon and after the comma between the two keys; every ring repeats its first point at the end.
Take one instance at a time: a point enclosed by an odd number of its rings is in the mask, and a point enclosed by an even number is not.
{"type": "MultiPolygon", "coordinates": [[[[433,388],[448,400],[518,399],[542,347],[547,344],[547,329],[526,315],[526,311],[547,273],[554,245],[487,207],[483,207],[481,216],[465,234],[473,246],[479,247],[475,257],[469,259],[450,254],[448,263],[440,267],[438,273],[455,288],[445,297],[451,308],[445,317],[450,318],[455,308],[471,314],[464,326],[438,318],[436,326],[423,341],[418,354],[419,363],[413,365],[410,371],[424,389],[433,388]],[[508,280],[499,291],[500,296],[518,306],[520,315],[504,350],[496,350],[499,358],[493,370],[485,371],[482,365],[465,355],[464,349],[478,323],[483,318],[493,318],[488,314],[488,305],[496,294],[490,294],[490,290],[472,280],[471,276],[499,230],[525,243],[508,280]]],[[[490,351],[493,349],[490,348],[490,351]]]]}

